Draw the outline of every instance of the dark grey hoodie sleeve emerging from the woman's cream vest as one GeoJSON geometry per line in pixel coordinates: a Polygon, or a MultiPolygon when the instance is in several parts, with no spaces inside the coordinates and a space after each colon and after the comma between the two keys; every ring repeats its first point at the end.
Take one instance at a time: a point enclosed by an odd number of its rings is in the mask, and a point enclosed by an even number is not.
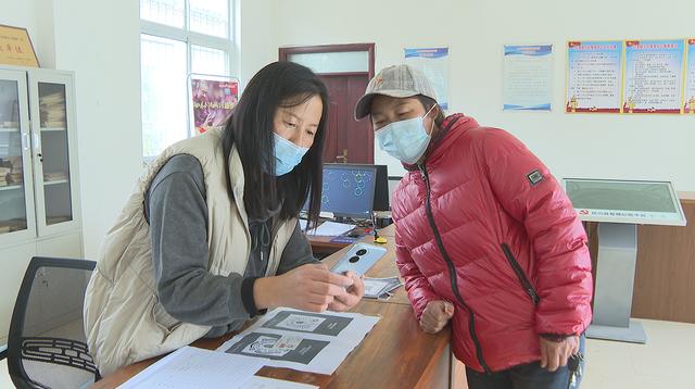
{"type": "Polygon", "coordinates": [[[197,159],[174,156],[157,173],[146,198],[160,302],[174,318],[228,326],[250,317],[242,301],[243,277],[207,271],[207,205],[197,159]]]}

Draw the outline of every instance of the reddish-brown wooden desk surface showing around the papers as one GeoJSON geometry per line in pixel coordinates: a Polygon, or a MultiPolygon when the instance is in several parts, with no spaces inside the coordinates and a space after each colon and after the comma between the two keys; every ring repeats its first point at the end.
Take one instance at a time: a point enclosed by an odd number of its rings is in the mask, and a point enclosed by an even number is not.
{"type": "MultiPolygon", "coordinates": [[[[369,241],[367,237],[365,241],[369,241]]],[[[390,250],[367,276],[397,275],[394,263],[393,239],[387,243],[390,250]]],[[[338,261],[348,248],[327,258],[329,266],[338,261]]],[[[321,388],[445,388],[450,384],[451,353],[450,329],[437,335],[425,334],[413,315],[407,297],[401,287],[388,302],[364,299],[352,312],[381,316],[381,321],[367,335],[331,376],[302,373],[288,368],[263,367],[260,376],[316,385],[321,388]]],[[[217,339],[204,339],[192,346],[216,349],[232,335],[217,339]]],[[[116,371],[97,382],[93,388],[114,388],[138,374],[157,359],[142,361],[116,371]]]]}

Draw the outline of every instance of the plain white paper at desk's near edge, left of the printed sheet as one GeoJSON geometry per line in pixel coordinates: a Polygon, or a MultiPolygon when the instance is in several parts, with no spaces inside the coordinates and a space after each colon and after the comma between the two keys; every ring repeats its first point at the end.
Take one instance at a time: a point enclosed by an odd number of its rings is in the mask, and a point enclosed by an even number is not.
{"type": "Polygon", "coordinates": [[[267,360],[184,347],[119,386],[131,388],[241,388],[267,360]]]}

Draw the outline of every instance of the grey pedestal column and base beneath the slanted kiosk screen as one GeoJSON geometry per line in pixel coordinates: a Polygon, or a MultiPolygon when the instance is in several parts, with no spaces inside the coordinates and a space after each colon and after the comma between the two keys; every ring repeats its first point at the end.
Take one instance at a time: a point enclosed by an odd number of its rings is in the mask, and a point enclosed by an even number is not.
{"type": "Polygon", "coordinates": [[[646,343],[642,324],[630,319],[636,260],[636,225],[598,224],[594,319],[587,338],[646,343]]]}

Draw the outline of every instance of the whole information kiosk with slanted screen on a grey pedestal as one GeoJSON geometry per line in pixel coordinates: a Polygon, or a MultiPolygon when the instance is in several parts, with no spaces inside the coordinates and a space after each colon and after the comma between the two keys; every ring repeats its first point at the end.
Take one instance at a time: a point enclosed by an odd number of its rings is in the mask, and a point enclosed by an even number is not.
{"type": "Polygon", "coordinates": [[[586,337],[646,343],[642,324],[630,318],[637,225],[685,225],[671,183],[565,178],[564,185],[579,217],[598,223],[594,319],[586,337]]]}

